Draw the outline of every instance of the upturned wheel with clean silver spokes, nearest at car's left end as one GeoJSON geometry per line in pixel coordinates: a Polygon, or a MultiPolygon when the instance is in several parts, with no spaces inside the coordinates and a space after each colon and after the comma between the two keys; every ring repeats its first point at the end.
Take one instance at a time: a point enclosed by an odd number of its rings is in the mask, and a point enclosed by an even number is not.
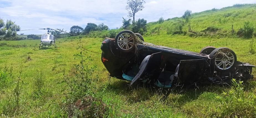
{"type": "Polygon", "coordinates": [[[124,53],[128,53],[134,50],[137,42],[137,36],[130,30],[124,30],[119,32],[115,38],[115,44],[117,49],[124,53]]]}

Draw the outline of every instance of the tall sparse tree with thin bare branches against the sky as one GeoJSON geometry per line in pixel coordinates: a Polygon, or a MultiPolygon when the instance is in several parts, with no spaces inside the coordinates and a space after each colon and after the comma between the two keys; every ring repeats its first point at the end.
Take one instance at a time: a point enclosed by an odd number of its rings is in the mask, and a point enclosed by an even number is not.
{"type": "Polygon", "coordinates": [[[146,3],[144,0],[128,0],[126,6],[126,10],[129,13],[128,17],[133,17],[133,20],[135,20],[135,14],[142,11],[144,3],[146,3]]]}

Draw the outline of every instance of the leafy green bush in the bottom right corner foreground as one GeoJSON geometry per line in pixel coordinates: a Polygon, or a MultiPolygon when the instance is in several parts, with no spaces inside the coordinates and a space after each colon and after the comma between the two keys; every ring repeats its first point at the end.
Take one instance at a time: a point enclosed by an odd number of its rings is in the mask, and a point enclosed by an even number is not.
{"type": "Polygon", "coordinates": [[[232,79],[232,88],[216,98],[222,103],[218,117],[255,117],[256,96],[244,92],[243,81],[232,79]]]}

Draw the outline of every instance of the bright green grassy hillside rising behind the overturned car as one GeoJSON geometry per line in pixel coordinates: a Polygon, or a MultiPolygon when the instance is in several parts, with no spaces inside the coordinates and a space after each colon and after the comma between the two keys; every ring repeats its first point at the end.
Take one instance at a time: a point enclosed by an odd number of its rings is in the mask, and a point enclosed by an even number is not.
{"type": "MultiPolygon", "coordinates": [[[[195,32],[200,32],[208,27],[216,27],[222,30],[222,32],[231,33],[232,25],[234,25],[234,30],[238,31],[246,21],[256,26],[255,19],[256,4],[234,5],[232,7],[194,13],[191,16],[190,25],[191,30],[195,32]]],[[[188,32],[189,23],[185,23],[185,20],[176,17],[167,19],[163,23],[148,23],[146,35],[158,35],[158,28],[160,29],[160,34],[167,34],[167,28],[169,31],[172,30],[174,32],[179,30],[177,27],[180,24],[183,25],[182,30],[188,32]],[[180,23],[180,21],[183,23],[180,23]]]]}

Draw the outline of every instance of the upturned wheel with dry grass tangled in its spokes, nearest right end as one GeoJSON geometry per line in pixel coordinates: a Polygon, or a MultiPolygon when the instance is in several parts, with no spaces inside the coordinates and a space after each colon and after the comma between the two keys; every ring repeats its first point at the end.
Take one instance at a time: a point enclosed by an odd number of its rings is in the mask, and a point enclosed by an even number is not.
{"type": "Polygon", "coordinates": [[[214,70],[218,72],[232,70],[237,62],[234,51],[225,47],[214,49],[209,57],[212,59],[214,70]]]}

